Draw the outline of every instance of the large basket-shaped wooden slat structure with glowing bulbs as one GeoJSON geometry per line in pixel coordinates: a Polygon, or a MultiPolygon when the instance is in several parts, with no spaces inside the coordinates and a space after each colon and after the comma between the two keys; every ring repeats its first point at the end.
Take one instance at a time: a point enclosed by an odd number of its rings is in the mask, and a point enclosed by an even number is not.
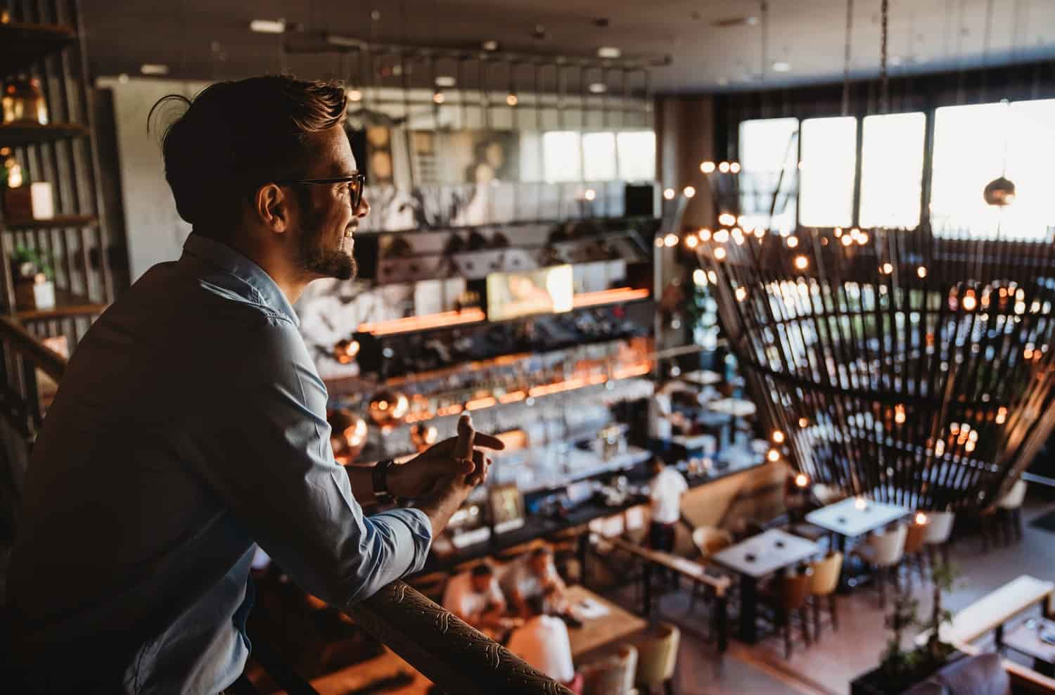
{"type": "Polygon", "coordinates": [[[724,228],[696,253],[774,445],[814,482],[985,507],[1055,426],[1050,242],[724,228]]]}

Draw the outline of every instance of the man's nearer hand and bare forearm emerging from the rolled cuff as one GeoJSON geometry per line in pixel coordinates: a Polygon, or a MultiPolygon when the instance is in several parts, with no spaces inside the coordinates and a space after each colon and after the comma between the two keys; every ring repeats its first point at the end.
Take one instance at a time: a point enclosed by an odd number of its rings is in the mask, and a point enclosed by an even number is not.
{"type": "MultiPolygon", "coordinates": [[[[419,466],[428,469],[428,476],[423,476],[419,484],[427,484],[428,493],[421,505],[421,510],[428,517],[433,525],[433,538],[438,537],[450,521],[450,516],[458,510],[472,489],[487,478],[487,467],[491,461],[481,451],[474,449],[477,438],[486,438],[498,444],[492,448],[502,448],[502,443],[486,435],[477,435],[473,429],[473,420],[464,414],[458,420],[458,437],[440,442],[417,459],[405,464],[413,465],[419,459],[428,457],[436,449],[442,453],[435,455],[429,465],[419,466]],[[479,464],[474,463],[479,455],[479,464]]],[[[427,460],[427,459],[426,459],[427,460]]],[[[397,466],[404,467],[404,466],[397,466]]],[[[389,484],[390,485],[390,484],[389,484]]],[[[421,489],[421,488],[419,488],[421,489]]],[[[397,495],[401,491],[394,490],[397,495]]]]}

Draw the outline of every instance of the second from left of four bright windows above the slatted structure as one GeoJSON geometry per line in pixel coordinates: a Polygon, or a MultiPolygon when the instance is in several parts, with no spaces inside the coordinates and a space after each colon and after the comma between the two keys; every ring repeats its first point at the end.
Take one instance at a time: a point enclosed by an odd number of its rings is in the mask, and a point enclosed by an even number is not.
{"type": "Polygon", "coordinates": [[[807,227],[853,224],[857,118],[802,121],[799,219],[807,227]]]}

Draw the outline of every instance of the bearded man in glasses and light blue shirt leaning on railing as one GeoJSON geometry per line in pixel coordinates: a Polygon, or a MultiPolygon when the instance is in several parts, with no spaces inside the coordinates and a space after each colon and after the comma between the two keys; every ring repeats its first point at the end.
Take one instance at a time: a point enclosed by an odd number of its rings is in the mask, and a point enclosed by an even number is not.
{"type": "Polygon", "coordinates": [[[193,226],[79,344],[33,451],[7,590],[13,662],[40,692],[217,693],[249,653],[255,544],[347,606],[419,569],[486,460],[458,437],[403,466],[333,461],[292,305],[350,278],[369,206],[342,88],[222,82],[165,134],[193,226]],[[364,517],[357,500],[416,498],[364,517]]]}

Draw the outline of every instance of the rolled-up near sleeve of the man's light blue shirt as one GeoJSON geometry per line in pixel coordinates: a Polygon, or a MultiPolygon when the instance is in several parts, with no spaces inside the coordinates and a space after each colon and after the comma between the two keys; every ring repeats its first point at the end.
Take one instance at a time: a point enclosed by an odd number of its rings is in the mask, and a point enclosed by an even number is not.
{"type": "Polygon", "coordinates": [[[419,571],[431,543],[420,509],[363,515],[347,471],[333,460],[326,386],[287,320],[254,322],[255,349],[239,385],[207,407],[195,445],[210,486],[282,568],[334,605],[375,594],[419,571]],[[204,443],[203,443],[204,442],[204,443]]]}

